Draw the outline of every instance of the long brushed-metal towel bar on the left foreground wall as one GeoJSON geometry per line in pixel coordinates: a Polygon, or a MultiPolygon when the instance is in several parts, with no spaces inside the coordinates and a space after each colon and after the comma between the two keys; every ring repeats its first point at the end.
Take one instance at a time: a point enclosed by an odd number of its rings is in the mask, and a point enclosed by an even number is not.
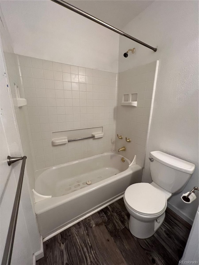
{"type": "Polygon", "coordinates": [[[14,244],[14,239],[15,239],[15,230],[16,230],[16,222],[17,222],[17,215],[19,211],[19,203],[20,203],[20,197],[21,197],[21,188],[23,184],[23,177],[24,177],[24,170],[25,170],[25,160],[26,156],[23,157],[7,157],[7,163],[8,166],[11,166],[12,163],[22,160],[21,164],[21,171],[19,175],[19,181],[17,184],[16,188],[16,195],[15,195],[15,200],[12,208],[12,214],[11,214],[11,219],[10,219],[10,224],[8,228],[8,233],[7,233],[7,239],[6,239],[6,244],[3,252],[3,258],[2,258],[2,265],[10,265],[11,263],[11,258],[12,258],[12,249],[13,249],[13,244],[14,244]]]}

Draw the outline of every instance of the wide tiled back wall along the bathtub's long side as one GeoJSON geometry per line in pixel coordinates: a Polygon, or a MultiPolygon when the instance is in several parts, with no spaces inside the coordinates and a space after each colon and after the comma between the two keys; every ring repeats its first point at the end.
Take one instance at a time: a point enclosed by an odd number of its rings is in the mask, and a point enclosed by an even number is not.
{"type": "Polygon", "coordinates": [[[17,55],[35,170],[114,150],[117,74],[17,55]],[[104,137],[52,146],[59,130],[104,127],[104,137]]]}

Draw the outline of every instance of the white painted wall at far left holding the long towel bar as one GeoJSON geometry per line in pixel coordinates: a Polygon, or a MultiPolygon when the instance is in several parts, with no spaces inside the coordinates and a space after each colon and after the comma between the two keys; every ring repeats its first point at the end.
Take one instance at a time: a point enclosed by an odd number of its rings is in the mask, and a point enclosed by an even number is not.
{"type": "MultiPolygon", "coordinates": [[[[4,249],[9,220],[13,207],[13,200],[16,193],[16,185],[21,169],[21,162],[8,167],[6,156],[21,156],[24,150],[19,136],[19,128],[17,125],[16,113],[12,101],[13,85],[10,80],[16,80],[17,72],[13,63],[12,43],[7,32],[7,27],[1,13],[1,254],[4,249]],[[3,23],[3,24],[2,24],[3,23]],[[7,61],[5,62],[4,51],[10,51],[7,61]],[[8,60],[9,58],[9,60],[8,60]],[[8,66],[8,69],[6,67],[8,66]],[[12,64],[12,66],[11,66],[12,64]],[[8,72],[9,70],[9,72],[8,72]],[[8,85],[8,87],[7,87],[8,85]]],[[[7,53],[8,55],[8,53],[7,53]]],[[[21,117],[22,122],[22,117],[21,117]]],[[[20,127],[21,125],[19,125],[20,127]]],[[[25,133],[25,132],[24,132],[25,133]]],[[[22,135],[23,136],[23,135],[22,135]]],[[[28,147],[27,147],[28,148],[28,147]]],[[[14,249],[12,255],[12,264],[32,264],[33,253],[40,250],[40,235],[36,223],[36,217],[32,201],[30,199],[28,156],[22,192],[21,203],[18,214],[18,222],[14,241],[14,249]]],[[[2,255],[1,255],[2,257],[2,255]]]]}

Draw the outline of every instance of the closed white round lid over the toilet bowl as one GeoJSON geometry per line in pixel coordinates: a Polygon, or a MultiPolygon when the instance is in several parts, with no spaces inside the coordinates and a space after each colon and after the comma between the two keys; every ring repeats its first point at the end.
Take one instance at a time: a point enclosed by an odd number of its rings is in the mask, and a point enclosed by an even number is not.
{"type": "Polygon", "coordinates": [[[149,183],[130,185],[124,193],[124,199],[130,208],[147,215],[159,214],[167,202],[164,193],[149,183]]]}

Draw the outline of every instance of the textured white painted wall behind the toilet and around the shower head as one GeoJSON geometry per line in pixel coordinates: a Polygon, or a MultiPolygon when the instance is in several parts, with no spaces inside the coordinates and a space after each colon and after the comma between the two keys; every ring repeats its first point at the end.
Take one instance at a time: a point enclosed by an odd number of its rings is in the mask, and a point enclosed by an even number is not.
{"type": "MultiPolygon", "coordinates": [[[[198,186],[198,2],[155,1],[123,30],[156,47],[145,48],[128,39],[120,39],[119,72],[159,60],[149,142],[150,151],[160,150],[196,165],[184,192],[198,186]],[[127,58],[129,48],[136,53],[127,58]]],[[[150,182],[149,160],[145,162],[143,181],[150,182]]],[[[198,196],[198,195],[197,195],[198,196]]],[[[169,207],[192,222],[198,199],[183,203],[180,194],[169,199],[169,207]]]]}

